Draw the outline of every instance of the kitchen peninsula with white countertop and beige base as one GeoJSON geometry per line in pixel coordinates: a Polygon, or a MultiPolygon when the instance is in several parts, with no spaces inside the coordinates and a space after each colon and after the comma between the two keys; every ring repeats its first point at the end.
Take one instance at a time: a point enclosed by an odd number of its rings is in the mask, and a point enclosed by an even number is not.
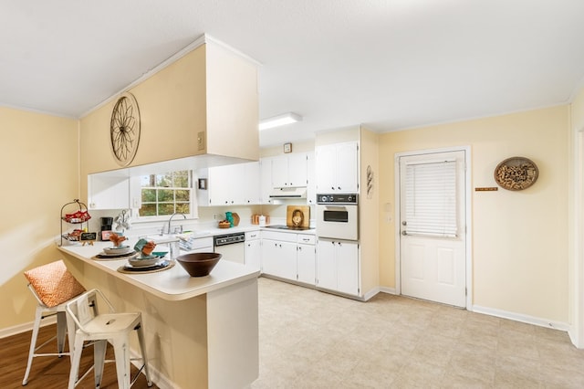
{"type": "Polygon", "coordinates": [[[86,289],[104,291],[117,310],[142,312],[155,384],[235,388],[255,381],[259,271],[220,260],[202,278],[190,277],[178,263],[159,272],[126,274],[118,268],[127,259],[94,259],[109,246],[96,242],[59,250],[73,258],[74,266],[81,261],[86,289]]]}

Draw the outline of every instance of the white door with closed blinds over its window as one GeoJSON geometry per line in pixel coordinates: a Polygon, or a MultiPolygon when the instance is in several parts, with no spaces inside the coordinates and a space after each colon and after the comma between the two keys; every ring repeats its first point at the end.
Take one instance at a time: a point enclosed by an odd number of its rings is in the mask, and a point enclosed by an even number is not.
{"type": "Polygon", "coordinates": [[[401,156],[401,294],[466,306],[465,152],[401,156]]]}

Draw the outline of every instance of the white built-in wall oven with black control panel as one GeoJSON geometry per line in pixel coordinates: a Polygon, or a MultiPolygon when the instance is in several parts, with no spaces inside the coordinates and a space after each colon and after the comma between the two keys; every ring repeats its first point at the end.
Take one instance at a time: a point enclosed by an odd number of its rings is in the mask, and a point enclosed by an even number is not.
{"type": "Polygon", "coordinates": [[[317,195],[316,222],[318,237],[359,240],[358,195],[317,195]]]}

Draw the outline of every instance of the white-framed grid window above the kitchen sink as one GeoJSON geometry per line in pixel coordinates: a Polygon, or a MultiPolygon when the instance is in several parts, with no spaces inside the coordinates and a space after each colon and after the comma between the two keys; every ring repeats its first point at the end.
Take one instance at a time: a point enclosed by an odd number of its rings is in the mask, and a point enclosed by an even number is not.
{"type": "Polygon", "coordinates": [[[141,218],[171,216],[182,213],[192,216],[193,174],[190,170],[162,174],[146,174],[140,177],[141,218]]]}

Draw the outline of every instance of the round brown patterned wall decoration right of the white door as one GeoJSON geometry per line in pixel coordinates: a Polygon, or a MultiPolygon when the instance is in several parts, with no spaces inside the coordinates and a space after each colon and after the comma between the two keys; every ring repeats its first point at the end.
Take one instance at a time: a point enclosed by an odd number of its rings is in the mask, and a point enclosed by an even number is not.
{"type": "Polygon", "coordinates": [[[536,163],[525,157],[511,157],[495,168],[495,181],[510,191],[521,191],[535,184],[539,171],[536,163]]]}

